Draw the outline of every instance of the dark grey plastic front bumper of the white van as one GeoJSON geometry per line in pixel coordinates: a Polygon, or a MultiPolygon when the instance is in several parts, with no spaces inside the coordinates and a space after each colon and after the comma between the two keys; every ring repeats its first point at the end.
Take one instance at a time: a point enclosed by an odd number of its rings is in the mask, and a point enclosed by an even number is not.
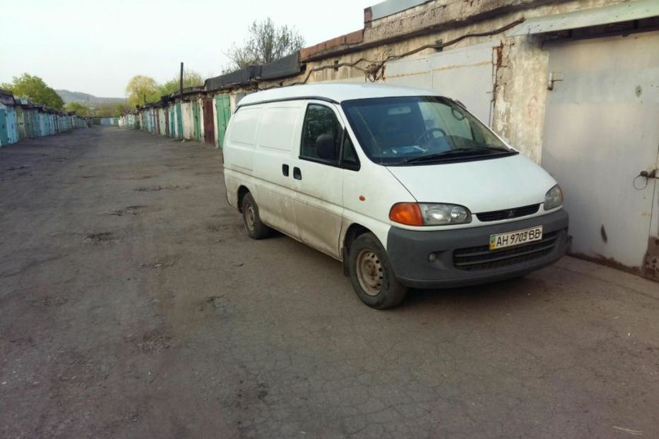
{"type": "Polygon", "coordinates": [[[447,288],[497,282],[554,263],[567,251],[569,217],[559,210],[527,220],[465,229],[415,231],[391,227],[387,254],[407,287],[447,288]],[[542,241],[489,251],[489,236],[542,226],[542,241]],[[437,259],[429,260],[430,253],[437,259]]]}

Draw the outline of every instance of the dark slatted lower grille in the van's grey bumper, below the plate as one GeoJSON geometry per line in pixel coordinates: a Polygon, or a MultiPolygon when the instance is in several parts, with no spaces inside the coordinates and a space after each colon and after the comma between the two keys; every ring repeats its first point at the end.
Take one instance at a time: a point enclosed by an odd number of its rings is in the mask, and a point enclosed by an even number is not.
{"type": "Polygon", "coordinates": [[[453,265],[459,270],[489,270],[542,258],[554,250],[557,234],[552,231],[540,241],[501,250],[489,250],[489,246],[459,248],[453,251],[453,265]]]}

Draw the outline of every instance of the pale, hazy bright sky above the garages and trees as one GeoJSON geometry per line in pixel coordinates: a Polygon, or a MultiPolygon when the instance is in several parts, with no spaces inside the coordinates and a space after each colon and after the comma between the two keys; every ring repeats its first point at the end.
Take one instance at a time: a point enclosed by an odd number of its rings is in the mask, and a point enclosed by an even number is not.
{"type": "Polygon", "coordinates": [[[177,77],[180,62],[203,78],[229,64],[254,20],[292,25],[310,46],[364,26],[379,0],[0,0],[0,83],[24,72],[54,89],[123,97],[146,75],[177,77]]]}

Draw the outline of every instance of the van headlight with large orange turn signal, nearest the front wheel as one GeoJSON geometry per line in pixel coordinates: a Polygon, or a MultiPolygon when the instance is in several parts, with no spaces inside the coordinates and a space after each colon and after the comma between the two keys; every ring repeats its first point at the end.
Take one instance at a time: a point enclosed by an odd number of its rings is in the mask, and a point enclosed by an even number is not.
{"type": "Polygon", "coordinates": [[[389,219],[408,226],[446,226],[470,223],[471,212],[457,204],[396,203],[389,210],[389,219]]]}

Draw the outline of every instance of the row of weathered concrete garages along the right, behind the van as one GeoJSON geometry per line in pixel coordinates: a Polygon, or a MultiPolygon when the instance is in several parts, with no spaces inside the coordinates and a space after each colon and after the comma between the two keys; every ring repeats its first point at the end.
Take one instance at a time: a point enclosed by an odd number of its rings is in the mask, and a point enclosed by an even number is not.
{"type": "Polygon", "coordinates": [[[659,279],[659,2],[388,0],[360,31],[209,78],[119,124],[221,146],[246,93],[324,81],[461,100],[562,185],[573,254],[659,279]]]}

